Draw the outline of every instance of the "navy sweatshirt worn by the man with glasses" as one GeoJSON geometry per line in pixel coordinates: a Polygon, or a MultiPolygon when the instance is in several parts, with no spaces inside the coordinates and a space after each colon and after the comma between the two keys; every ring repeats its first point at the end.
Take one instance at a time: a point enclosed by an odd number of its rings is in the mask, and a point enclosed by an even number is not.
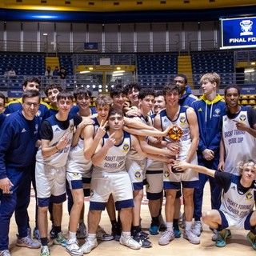
{"type": "Polygon", "coordinates": [[[40,118],[27,120],[22,111],[6,117],[0,129],[0,178],[6,178],[6,167],[30,166],[39,128],[40,118]]]}

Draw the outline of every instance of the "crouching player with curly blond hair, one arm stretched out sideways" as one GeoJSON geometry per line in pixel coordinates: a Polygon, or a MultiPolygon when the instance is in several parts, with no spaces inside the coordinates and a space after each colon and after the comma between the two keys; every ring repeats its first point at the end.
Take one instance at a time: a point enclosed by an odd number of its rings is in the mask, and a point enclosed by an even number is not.
{"type": "Polygon", "coordinates": [[[174,168],[178,171],[191,169],[202,174],[214,177],[224,190],[222,205],[219,210],[208,210],[202,214],[202,222],[218,230],[218,239],[215,246],[226,246],[226,238],[230,238],[231,230],[250,230],[247,240],[256,250],[256,212],[255,205],[255,178],[256,162],[248,160],[238,165],[239,175],[228,172],[219,172],[204,166],[191,165],[177,160],[174,168]]]}

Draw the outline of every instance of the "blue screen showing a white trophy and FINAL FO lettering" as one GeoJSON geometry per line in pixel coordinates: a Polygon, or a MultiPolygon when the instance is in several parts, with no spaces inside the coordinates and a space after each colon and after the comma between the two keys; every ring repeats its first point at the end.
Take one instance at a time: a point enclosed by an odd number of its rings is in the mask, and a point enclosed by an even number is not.
{"type": "Polygon", "coordinates": [[[223,18],[221,49],[256,47],[256,17],[223,18]]]}

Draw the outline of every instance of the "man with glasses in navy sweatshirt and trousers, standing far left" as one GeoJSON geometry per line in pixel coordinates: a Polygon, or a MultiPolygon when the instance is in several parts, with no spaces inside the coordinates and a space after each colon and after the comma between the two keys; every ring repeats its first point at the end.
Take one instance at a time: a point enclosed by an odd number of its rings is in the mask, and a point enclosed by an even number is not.
{"type": "Polygon", "coordinates": [[[18,225],[17,246],[40,248],[27,234],[27,206],[30,203],[31,162],[38,142],[40,118],[38,90],[26,90],[22,110],[10,114],[0,130],[0,255],[10,255],[10,218],[15,210],[18,225]]]}

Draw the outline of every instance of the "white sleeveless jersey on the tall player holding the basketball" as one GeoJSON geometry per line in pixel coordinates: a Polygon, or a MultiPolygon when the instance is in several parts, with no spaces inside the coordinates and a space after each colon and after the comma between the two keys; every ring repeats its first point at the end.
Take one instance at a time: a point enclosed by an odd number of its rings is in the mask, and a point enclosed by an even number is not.
{"type": "MultiPolygon", "coordinates": [[[[166,114],[166,110],[162,110],[162,112],[160,112],[162,130],[166,130],[166,128],[171,125],[179,126],[182,129],[182,138],[178,140],[181,146],[178,158],[182,159],[186,157],[191,145],[190,125],[186,118],[186,110],[186,107],[180,106],[178,118],[176,120],[170,120],[166,114]]],[[[164,139],[167,142],[172,141],[168,136],[164,137],[164,139]]]]}

